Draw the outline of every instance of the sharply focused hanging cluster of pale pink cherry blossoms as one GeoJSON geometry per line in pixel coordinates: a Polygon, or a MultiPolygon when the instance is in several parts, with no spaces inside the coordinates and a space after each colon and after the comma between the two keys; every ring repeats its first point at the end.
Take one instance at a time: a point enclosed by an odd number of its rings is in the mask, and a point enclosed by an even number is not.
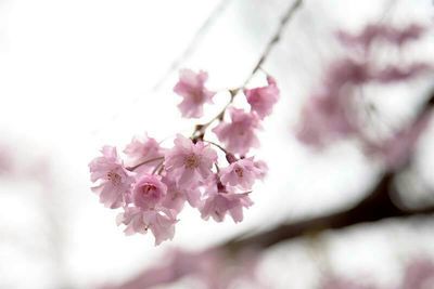
{"type": "MultiPolygon", "coordinates": [[[[174,91],[182,97],[178,107],[183,117],[202,117],[204,104],[213,103],[216,92],[205,87],[207,77],[205,71],[180,71],[174,91]]],[[[126,146],[124,158],[115,147],[102,148],[102,156],[89,163],[95,183],[92,191],[105,207],[123,210],[117,222],[126,226],[126,234],[151,231],[155,245],[171,239],[186,201],[204,220],[221,222],[227,214],[234,222],[243,220],[243,209],[253,205],[252,187],[267,172],[264,161],[247,156],[258,147],[260,122],[279,98],[276,81],[271,77],[260,88],[230,90],[230,102],[217,117],[197,124],[190,137],[178,134],[171,147],[143,135],[126,146]],[[241,94],[250,104],[248,111],[232,103],[241,94]],[[212,132],[220,144],[205,140],[216,122],[212,132]]]]}

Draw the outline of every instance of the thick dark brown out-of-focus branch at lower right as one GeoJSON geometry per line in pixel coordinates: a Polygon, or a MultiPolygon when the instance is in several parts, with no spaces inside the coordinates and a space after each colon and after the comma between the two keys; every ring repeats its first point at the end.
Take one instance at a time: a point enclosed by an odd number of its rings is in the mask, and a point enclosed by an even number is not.
{"type": "MultiPolygon", "coordinates": [[[[432,93],[431,97],[419,111],[414,122],[423,118],[433,107],[434,93],[432,93]]],[[[411,156],[409,156],[408,159],[410,161],[411,156]]],[[[234,252],[246,248],[264,249],[292,238],[302,237],[311,233],[319,233],[326,229],[341,229],[361,223],[378,222],[388,218],[405,218],[434,213],[434,205],[426,208],[409,209],[400,206],[399,201],[396,199],[394,180],[408,165],[407,162],[398,171],[384,173],[376,185],[368,192],[367,196],[353,208],[328,215],[282,224],[270,231],[248,237],[235,237],[222,244],[220,247],[234,252]]]]}

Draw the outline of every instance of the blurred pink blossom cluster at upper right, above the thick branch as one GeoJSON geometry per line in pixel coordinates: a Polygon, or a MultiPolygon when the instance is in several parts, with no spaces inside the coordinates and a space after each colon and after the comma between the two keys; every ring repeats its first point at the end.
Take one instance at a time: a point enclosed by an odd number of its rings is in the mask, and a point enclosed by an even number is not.
{"type": "Polygon", "coordinates": [[[369,135],[368,129],[371,128],[366,121],[367,116],[363,116],[372,114],[372,109],[369,107],[369,111],[363,111],[357,107],[362,102],[360,94],[363,86],[398,83],[432,74],[432,66],[423,62],[379,65],[373,57],[375,44],[385,43],[387,49],[397,48],[400,51],[405,44],[421,37],[423,31],[418,25],[399,29],[369,25],[358,35],[339,32],[339,39],[348,48],[350,55],[330,65],[323,84],[303,107],[297,128],[298,140],[323,147],[340,139],[355,137],[368,155],[381,156],[388,168],[396,169],[404,163],[429,117],[417,119],[413,126],[394,132],[390,137],[373,140],[369,135]],[[398,137],[400,141],[396,142],[398,137]]]}

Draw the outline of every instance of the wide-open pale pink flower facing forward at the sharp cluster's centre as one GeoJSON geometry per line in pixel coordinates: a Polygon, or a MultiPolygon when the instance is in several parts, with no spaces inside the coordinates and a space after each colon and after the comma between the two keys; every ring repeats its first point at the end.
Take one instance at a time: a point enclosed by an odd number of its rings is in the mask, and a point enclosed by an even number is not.
{"type": "Polygon", "coordinates": [[[180,134],[175,139],[175,147],[166,153],[165,169],[175,175],[177,184],[188,187],[203,181],[212,173],[217,161],[217,153],[203,142],[193,144],[180,134]]]}

